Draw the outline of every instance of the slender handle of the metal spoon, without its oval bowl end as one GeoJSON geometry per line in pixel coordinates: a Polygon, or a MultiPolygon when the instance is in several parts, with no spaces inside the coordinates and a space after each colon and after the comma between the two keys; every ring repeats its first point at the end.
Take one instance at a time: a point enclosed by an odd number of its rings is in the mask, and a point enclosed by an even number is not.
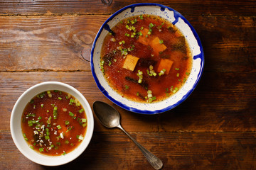
{"type": "Polygon", "coordinates": [[[163,162],[161,162],[161,159],[159,159],[158,157],[156,157],[154,154],[152,154],[151,152],[149,152],[149,150],[147,150],[146,148],[144,148],[142,145],[140,145],[136,140],[134,140],[134,138],[132,138],[131,135],[129,135],[129,133],[127,133],[121,125],[117,126],[117,128],[121,129],[136,145],[137,147],[139,147],[139,149],[142,151],[142,153],[144,154],[144,156],[146,157],[146,159],[148,160],[148,162],[151,164],[151,166],[153,166],[154,169],[161,169],[163,166],[163,162]]]}

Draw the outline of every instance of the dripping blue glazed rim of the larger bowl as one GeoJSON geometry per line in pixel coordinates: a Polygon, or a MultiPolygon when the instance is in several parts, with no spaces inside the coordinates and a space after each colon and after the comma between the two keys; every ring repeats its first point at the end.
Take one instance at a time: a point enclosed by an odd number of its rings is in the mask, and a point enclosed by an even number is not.
{"type": "Polygon", "coordinates": [[[90,56],[90,65],[91,65],[92,76],[95,79],[97,87],[100,89],[102,94],[104,94],[110,101],[117,104],[117,106],[119,106],[121,108],[124,108],[127,111],[132,111],[134,113],[140,113],[140,114],[145,114],[145,115],[154,115],[154,114],[158,114],[158,113],[164,113],[166,111],[169,111],[169,110],[175,108],[176,106],[180,105],[183,101],[185,101],[186,98],[188,98],[188,96],[191,95],[193,90],[196,89],[196,86],[197,86],[198,82],[201,79],[201,76],[203,74],[204,62],[205,62],[205,60],[204,60],[203,46],[202,46],[202,43],[201,43],[201,40],[200,40],[198,34],[196,33],[196,30],[193,28],[191,23],[189,23],[186,20],[186,18],[181,15],[181,13],[178,13],[178,11],[174,10],[173,8],[170,8],[169,6],[164,6],[164,5],[161,5],[161,4],[156,4],[156,3],[132,4],[132,5],[129,5],[129,6],[125,6],[124,8],[121,8],[118,11],[116,11],[115,13],[113,13],[112,16],[110,16],[110,18],[107,18],[107,20],[100,27],[100,30],[98,31],[98,33],[95,37],[95,40],[92,44],[92,50],[91,50],[91,56],[90,56]],[[131,8],[131,10],[134,11],[134,8],[136,8],[137,6],[158,6],[158,7],[161,8],[161,11],[164,11],[165,8],[167,8],[169,11],[173,11],[174,12],[174,17],[176,18],[176,21],[174,21],[173,24],[175,25],[175,23],[177,22],[177,18],[181,18],[189,26],[189,28],[191,28],[191,31],[192,31],[194,37],[196,38],[196,41],[198,42],[198,46],[200,47],[200,50],[201,50],[201,53],[199,55],[192,56],[193,60],[195,60],[197,58],[201,59],[201,64],[200,64],[201,67],[200,67],[200,70],[198,72],[196,82],[193,84],[193,87],[189,91],[187,91],[187,93],[178,102],[174,103],[171,106],[166,106],[165,108],[162,108],[160,110],[155,110],[155,111],[148,111],[148,110],[141,110],[141,109],[138,109],[138,108],[132,108],[132,107],[129,107],[129,106],[125,105],[125,103],[121,103],[121,102],[117,101],[116,99],[112,98],[112,96],[110,96],[108,94],[108,92],[105,90],[105,88],[100,84],[99,79],[97,79],[97,75],[95,73],[95,66],[94,66],[94,63],[93,63],[93,55],[94,55],[93,53],[95,51],[95,45],[96,45],[97,39],[100,37],[100,34],[102,33],[102,30],[105,29],[105,26],[107,25],[107,23],[112,21],[112,19],[115,16],[117,16],[119,13],[122,13],[122,11],[125,11],[127,8],[131,8]]]}

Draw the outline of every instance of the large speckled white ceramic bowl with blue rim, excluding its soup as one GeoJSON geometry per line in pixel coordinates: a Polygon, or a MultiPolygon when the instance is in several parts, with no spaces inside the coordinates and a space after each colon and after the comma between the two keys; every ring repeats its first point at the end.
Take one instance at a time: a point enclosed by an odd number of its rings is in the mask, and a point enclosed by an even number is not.
{"type": "Polygon", "coordinates": [[[110,18],[108,18],[105,23],[103,23],[92,45],[91,69],[92,75],[98,88],[105,96],[107,96],[107,98],[110,99],[110,101],[117,104],[117,106],[135,113],[162,113],[178,106],[178,104],[183,102],[192,93],[193,89],[196,88],[196,85],[198,84],[198,81],[201,78],[201,74],[203,72],[203,65],[203,47],[201,45],[201,41],[199,40],[198,34],[196,33],[196,30],[194,30],[191,24],[188,23],[186,18],[184,18],[181,13],[178,13],[174,9],[160,4],[134,4],[120,9],[112,16],[110,16],[110,18]],[[105,39],[105,36],[109,33],[110,29],[124,18],[142,14],[161,16],[167,21],[173,23],[179,30],[181,30],[181,33],[183,33],[185,36],[193,56],[191,74],[188,77],[186,83],[182,86],[181,89],[178,90],[176,94],[164,101],[156,103],[136,103],[134,101],[128,100],[127,98],[123,98],[117,94],[116,91],[111,89],[100,70],[100,52],[102,49],[102,42],[105,39]]]}

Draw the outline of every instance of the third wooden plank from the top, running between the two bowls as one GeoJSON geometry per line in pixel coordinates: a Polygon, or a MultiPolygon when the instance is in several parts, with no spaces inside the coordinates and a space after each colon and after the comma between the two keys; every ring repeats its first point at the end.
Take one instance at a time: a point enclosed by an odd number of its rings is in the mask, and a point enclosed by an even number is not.
{"type": "MultiPolygon", "coordinates": [[[[256,131],[255,72],[205,72],[196,90],[180,106],[151,116],[115,106],[97,89],[90,72],[0,72],[0,130],[9,130],[11,109],[18,96],[43,81],[62,81],[74,86],[90,106],[94,101],[110,103],[121,113],[121,123],[129,132],[256,131]]],[[[110,131],[97,119],[95,123],[95,131],[110,131]]]]}

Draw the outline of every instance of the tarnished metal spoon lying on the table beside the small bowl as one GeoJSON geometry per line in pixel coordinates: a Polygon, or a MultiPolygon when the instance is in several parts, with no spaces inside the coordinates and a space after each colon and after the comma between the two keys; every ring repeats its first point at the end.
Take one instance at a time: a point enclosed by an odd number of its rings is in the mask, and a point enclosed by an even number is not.
{"type": "Polygon", "coordinates": [[[117,110],[115,110],[112,106],[108,105],[107,103],[104,103],[102,101],[95,101],[93,103],[93,111],[95,112],[95,115],[97,115],[97,118],[100,120],[100,123],[102,125],[105,125],[107,128],[119,128],[121,129],[131,140],[141,149],[142,153],[148,160],[148,162],[151,164],[151,166],[154,167],[154,169],[161,169],[163,166],[163,162],[156,157],[154,154],[149,152],[146,148],[142,147],[134,138],[132,138],[120,125],[120,115],[117,110]]]}

